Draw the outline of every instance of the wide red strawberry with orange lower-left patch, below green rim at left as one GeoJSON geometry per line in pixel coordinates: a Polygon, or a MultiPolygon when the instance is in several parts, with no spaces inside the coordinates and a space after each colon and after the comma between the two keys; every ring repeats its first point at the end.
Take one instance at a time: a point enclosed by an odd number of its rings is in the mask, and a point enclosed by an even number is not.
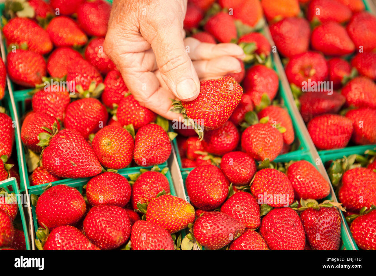
{"type": "Polygon", "coordinates": [[[132,189],[127,179],[115,172],[104,172],[91,178],[86,186],[89,204],[115,205],[124,207],[130,199],[132,189]]]}

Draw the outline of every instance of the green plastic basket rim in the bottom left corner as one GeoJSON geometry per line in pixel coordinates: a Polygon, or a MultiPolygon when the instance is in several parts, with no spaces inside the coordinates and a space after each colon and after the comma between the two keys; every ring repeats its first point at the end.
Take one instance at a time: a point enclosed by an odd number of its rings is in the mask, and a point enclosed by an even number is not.
{"type": "MultiPolygon", "coordinates": [[[[7,193],[15,193],[18,199],[18,195],[20,195],[20,199],[23,198],[24,194],[21,194],[20,190],[18,189],[17,181],[14,177],[5,179],[3,181],[0,181],[0,188],[4,188],[7,193]]],[[[20,200],[17,201],[18,204],[18,214],[17,217],[14,220],[15,224],[22,225],[23,232],[25,235],[25,241],[26,241],[26,250],[30,250],[30,241],[29,241],[29,232],[27,230],[27,223],[23,211],[23,205],[20,200]]]]}

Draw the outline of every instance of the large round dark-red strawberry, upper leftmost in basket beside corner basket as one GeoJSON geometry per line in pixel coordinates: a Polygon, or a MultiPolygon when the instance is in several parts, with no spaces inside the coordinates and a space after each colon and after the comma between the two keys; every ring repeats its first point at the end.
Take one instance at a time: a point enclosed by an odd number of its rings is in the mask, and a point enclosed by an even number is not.
{"type": "Polygon", "coordinates": [[[83,196],[77,189],[65,185],[45,190],[36,202],[35,214],[39,225],[49,229],[74,225],[86,211],[83,196]]]}

